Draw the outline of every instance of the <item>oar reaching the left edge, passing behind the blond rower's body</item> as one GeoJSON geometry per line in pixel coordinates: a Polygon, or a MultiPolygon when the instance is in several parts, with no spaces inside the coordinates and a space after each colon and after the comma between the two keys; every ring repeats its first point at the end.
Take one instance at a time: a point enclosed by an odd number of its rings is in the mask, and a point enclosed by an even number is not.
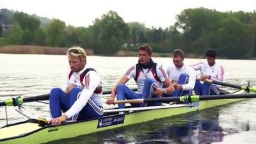
{"type": "MultiPolygon", "coordinates": [[[[132,88],[131,90],[137,91],[137,88],[132,88]]],[[[103,95],[111,94],[111,90],[102,92],[103,95]]],[[[35,97],[16,97],[12,99],[8,99],[5,102],[0,102],[0,106],[21,106],[24,102],[35,102],[37,100],[49,100],[50,94],[38,95],[35,97]]]]}

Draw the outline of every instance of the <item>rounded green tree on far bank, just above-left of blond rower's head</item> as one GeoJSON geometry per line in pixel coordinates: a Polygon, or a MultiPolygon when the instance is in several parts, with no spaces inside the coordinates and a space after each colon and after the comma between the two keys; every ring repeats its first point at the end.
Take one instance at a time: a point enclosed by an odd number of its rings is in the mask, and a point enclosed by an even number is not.
{"type": "Polygon", "coordinates": [[[61,43],[63,43],[63,40],[65,40],[65,37],[63,36],[65,33],[65,28],[65,22],[58,19],[53,19],[45,29],[45,43],[54,47],[60,46],[61,43]]]}

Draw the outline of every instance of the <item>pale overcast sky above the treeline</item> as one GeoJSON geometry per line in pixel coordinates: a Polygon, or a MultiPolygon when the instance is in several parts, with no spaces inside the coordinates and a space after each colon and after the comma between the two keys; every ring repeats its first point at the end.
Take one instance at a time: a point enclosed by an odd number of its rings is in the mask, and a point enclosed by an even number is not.
{"type": "Polygon", "coordinates": [[[67,25],[84,27],[113,10],[125,22],[141,22],[148,28],[168,28],[182,10],[200,7],[221,12],[253,12],[256,10],[256,0],[0,0],[0,8],[35,13],[63,20],[67,25]]]}

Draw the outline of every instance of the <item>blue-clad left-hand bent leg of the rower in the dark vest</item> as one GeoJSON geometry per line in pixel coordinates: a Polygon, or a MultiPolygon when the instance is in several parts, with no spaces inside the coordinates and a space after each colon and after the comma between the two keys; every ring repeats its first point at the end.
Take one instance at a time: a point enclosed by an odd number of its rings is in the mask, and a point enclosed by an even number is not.
{"type": "MultiPolygon", "coordinates": [[[[125,99],[141,99],[141,95],[133,92],[125,84],[118,84],[116,87],[116,99],[125,100],[125,99]]],[[[132,107],[140,107],[140,104],[131,104],[132,107]]],[[[118,108],[124,108],[125,104],[118,104],[118,108]]]]}

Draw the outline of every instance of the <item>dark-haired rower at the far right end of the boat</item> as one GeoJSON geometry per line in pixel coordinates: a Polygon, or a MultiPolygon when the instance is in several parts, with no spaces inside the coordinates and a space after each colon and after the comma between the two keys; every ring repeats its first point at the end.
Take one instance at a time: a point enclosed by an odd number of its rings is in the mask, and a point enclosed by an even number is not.
{"type": "MultiPolygon", "coordinates": [[[[205,79],[212,79],[214,81],[224,82],[224,69],[220,64],[216,63],[216,55],[217,52],[214,49],[207,49],[207,51],[205,52],[207,63],[200,62],[192,65],[195,70],[200,70],[200,79],[202,81],[204,81],[205,79]]],[[[216,84],[205,83],[202,81],[196,80],[194,89],[196,95],[220,94],[220,91],[218,90],[218,86],[216,84]]]]}

